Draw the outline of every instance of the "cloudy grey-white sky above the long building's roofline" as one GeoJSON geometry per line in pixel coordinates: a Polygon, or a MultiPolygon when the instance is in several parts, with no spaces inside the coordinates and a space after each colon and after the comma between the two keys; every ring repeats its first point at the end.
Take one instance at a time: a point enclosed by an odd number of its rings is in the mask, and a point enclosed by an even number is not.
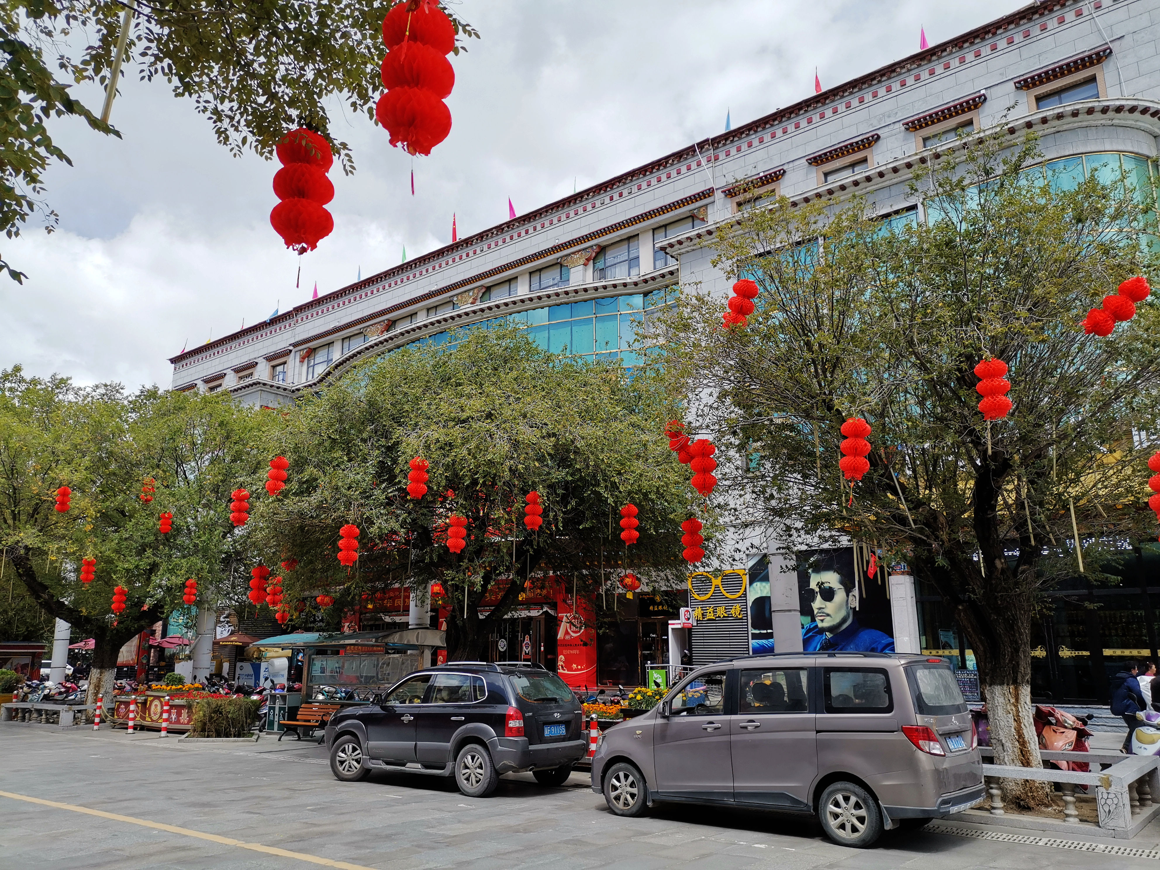
{"type": "MultiPolygon", "coordinates": [[[[429,158],[336,110],[357,172],[335,165],[334,232],[297,260],[269,224],[276,162],[230,157],[164,82],[130,71],[113,109],[123,139],[52,129],[73,166],[48,173],[60,215],[2,254],[0,368],[82,383],[169,385],[167,357],[461,235],[625,172],[822,87],[991,21],[1014,0],[462,0],[483,35],[452,56],[451,135],[429,158]]],[[[88,104],[100,109],[100,94],[88,104]]]]}

